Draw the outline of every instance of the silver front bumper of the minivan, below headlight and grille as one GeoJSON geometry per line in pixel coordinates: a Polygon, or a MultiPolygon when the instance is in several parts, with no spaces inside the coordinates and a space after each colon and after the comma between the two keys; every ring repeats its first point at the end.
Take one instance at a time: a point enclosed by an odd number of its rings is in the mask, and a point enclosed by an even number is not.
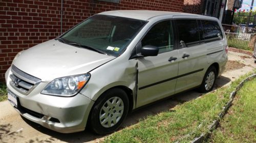
{"type": "Polygon", "coordinates": [[[84,130],[94,101],[80,93],[73,97],[40,94],[48,82],[39,83],[31,93],[23,95],[10,85],[10,72],[6,72],[7,89],[17,97],[18,106],[14,108],[20,115],[61,133],[84,130]]]}

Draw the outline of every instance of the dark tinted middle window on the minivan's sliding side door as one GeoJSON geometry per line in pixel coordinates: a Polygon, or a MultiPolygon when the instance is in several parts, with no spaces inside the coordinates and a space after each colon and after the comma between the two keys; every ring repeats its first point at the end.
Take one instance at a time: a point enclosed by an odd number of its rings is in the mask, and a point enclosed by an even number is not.
{"type": "Polygon", "coordinates": [[[189,47],[200,44],[197,20],[179,19],[175,21],[175,25],[179,33],[180,47],[189,47]]]}

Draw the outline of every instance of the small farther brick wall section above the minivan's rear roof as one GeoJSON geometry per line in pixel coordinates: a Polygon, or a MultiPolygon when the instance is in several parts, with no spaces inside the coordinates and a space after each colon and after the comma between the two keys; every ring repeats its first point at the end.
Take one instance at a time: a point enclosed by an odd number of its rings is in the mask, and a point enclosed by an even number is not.
{"type": "Polygon", "coordinates": [[[203,14],[204,0],[184,0],[183,12],[203,14]]]}

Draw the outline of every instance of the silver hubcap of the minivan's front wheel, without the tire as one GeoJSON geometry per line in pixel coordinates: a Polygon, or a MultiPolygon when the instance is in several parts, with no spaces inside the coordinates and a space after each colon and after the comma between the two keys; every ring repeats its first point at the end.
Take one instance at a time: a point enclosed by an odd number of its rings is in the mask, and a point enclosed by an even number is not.
{"type": "Polygon", "coordinates": [[[107,100],[100,109],[99,121],[105,128],[115,126],[122,118],[124,110],[123,101],[120,97],[112,97],[107,100]]]}

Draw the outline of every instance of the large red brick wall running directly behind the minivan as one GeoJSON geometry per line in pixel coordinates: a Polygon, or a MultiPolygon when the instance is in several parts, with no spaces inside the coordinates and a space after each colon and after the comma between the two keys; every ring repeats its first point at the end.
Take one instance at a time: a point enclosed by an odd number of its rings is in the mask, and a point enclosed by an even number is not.
{"type": "MultiPolygon", "coordinates": [[[[146,9],[183,11],[183,0],[63,1],[63,32],[103,11],[146,9]]],[[[60,35],[61,0],[0,0],[0,81],[14,56],[60,35]]]]}

